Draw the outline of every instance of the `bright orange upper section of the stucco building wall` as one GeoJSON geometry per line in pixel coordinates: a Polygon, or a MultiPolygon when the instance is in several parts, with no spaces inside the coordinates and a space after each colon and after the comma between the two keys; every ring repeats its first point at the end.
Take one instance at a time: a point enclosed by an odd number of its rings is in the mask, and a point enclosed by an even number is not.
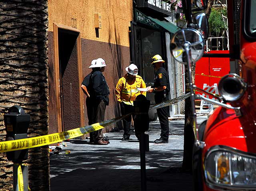
{"type": "Polygon", "coordinates": [[[77,28],[84,39],[129,46],[132,0],[49,0],[48,4],[49,31],[53,31],[52,24],[56,23],[77,28]],[[102,16],[99,38],[96,37],[94,13],[102,16]]]}

